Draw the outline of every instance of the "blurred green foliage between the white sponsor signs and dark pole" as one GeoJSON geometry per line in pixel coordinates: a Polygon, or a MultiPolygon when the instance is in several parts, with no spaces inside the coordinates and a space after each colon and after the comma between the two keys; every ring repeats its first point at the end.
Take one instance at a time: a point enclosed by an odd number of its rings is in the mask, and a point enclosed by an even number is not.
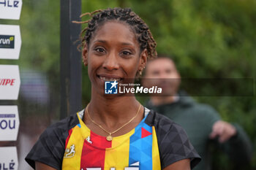
{"type": "Polygon", "coordinates": [[[23,2],[20,66],[59,75],[59,18],[59,1],[23,2]]]}

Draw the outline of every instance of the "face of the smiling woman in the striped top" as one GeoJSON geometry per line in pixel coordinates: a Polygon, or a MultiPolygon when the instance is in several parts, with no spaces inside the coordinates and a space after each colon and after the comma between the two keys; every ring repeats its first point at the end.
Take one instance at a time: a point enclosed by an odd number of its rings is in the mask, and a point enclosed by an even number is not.
{"type": "Polygon", "coordinates": [[[102,90],[105,81],[134,79],[146,65],[147,52],[140,53],[138,40],[127,24],[110,21],[94,32],[83,57],[92,86],[102,90]]]}

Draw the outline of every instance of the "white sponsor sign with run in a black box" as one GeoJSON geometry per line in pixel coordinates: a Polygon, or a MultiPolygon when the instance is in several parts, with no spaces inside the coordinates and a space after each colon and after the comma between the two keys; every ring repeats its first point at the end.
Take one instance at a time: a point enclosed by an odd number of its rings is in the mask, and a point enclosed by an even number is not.
{"type": "Polygon", "coordinates": [[[20,26],[0,24],[0,59],[18,59],[20,47],[20,26]]]}

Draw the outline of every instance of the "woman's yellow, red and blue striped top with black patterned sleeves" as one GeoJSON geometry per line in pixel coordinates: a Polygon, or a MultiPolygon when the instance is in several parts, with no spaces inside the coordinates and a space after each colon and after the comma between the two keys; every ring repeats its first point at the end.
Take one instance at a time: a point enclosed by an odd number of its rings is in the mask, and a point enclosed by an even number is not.
{"type": "Polygon", "coordinates": [[[39,161],[63,170],[160,170],[185,158],[190,158],[195,166],[200,157],[181,126],[148,112],[145,108],[145,117],[139,125],[110,142],[90,131],[82,120],[84,110],[78,112],[59,125],[50,126],[26,161],[32,167],[34,161],[39,161]],[[62,148],[57,152],[53,145],[62,148]]]}

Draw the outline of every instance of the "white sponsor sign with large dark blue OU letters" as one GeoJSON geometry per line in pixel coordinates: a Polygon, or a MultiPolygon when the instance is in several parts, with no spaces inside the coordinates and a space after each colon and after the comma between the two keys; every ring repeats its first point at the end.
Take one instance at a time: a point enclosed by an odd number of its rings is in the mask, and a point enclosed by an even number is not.
{"type": "Polygon", "coordinates": [[[19,125],[17,106],[0,106],[0,141],[16,141],[19,125]]]}

